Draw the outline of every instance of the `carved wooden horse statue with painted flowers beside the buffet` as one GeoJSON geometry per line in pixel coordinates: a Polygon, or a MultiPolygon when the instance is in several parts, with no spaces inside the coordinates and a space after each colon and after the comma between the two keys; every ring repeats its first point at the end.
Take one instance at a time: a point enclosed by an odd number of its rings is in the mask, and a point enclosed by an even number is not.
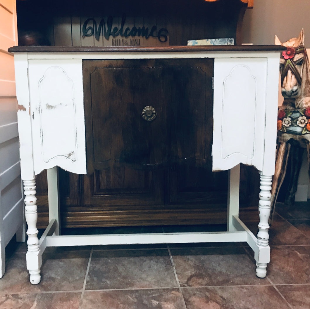
{"type": "Polygon", "coordinates": [[[286,172],[290,172],[290,181],[284,203],[292,205],[305,149],[309,158],[310,67],[303,44],[303,29],[298,38],[292,38],[285,43],[281,43],[276,36],[276,45],[285,46],[286,50],[280,57],[281,93],[284,101],[278,110],[276,169],[272,184],[269,223],[272,222],[274,206],[286,172]],[[288,166],[290,171],[287,171],[288,166]]]}

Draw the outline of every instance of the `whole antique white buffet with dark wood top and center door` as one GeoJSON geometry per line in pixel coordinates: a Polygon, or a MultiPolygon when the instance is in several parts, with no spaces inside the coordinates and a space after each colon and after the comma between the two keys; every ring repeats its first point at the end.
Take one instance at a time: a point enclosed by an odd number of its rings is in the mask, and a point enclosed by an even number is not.
{"type": "MultiPolygon", "coordinates": [[[[47,246],[182,242],[247,242],[254,251],[256,275],[265,277],[270,257],[268,217],[274,174],[278,71],[282,49],[281,46],[10,48],[9,52],[14,53],[15,58],[16,94],[19,104],[21,175],[24,181],[25,216],[28,224],[26,259],[30,282],[40,282],[41,256],[47,246]],[[159,98],[162,99],[152,100],[149,97],[145,98],[144,102],[139,99],[136,103],[133,98],[136,92],[139,92],[139,87],[134,87],[135,93],[131,98],[116,95],[116,99],[109,105],[106,98],[113,98],[113,93],[116,94],[118,89],[125,86],[129,91],[131,89],[130,82],[126,85],[118,82],[118,77],[124,74],[128,75],[129,80],[131,76],[138,74],[139,78],[135,81],[151,76],[161,93],[159,98]],[[170,111],[169,114],[174,116],[173,119],[178,118],[178,110],[186,108],[184,102],[173,102],[173,95],[165,101],[166,86],[161,79],[167,75],[170,76],[171,89],[174,84],[180,87],[179,77],[188,75],[188,79],[202,81],[202,88],[209,88],[211,93],[213,92],[211,107],[206,107],[204,94],[200,97],[198,95],[197,107],[191,106],[195,110],[198,125],[193,121],[194,130],[189,137],[186,137],[187,132],[182,124],[167,124],[172,120],[167,114],[170,107],[164,104],[173,106],[173,112],[171,114],[170,111]],[[110,76],[111,82],[104,84],[105,79],[110,76]],[[101,87],[100,83],[104,86],[101,87]],[[177,160],[185,160],[193,154],[194,159],[197,159],[198,148],[203,157],[204,151],[209,151],[207,145],[203,144],[205,139],[197,139],[196,148],[186,152],[186,138],[195,139],[197,130],[200,130],[202,135],[210,134],[206,128],[208,125],[212,128],[212,109],[213,141],[212,145],[209,145],[210,150],[212,149],[212,168],[214,171],[230,170],[227,232],[59,235],[57,166],[69,172],[86,174],[94,166],[104,168],[108,161],[119,164],[121,157],[134,157],[131,158],[131,163],[134,162],[137,166],[139,158],[145,161],[147,157],[146,163],[144,162],[147,167],[163,161],[169,164],[169,160],[176,157],[177,160]],[[134,114],[136,112],[136,118],[132,120],[134,116],[131,115],[131,120],[125,125],[125,116],[132,113],[132,110],[134,114]],[[114,121],[109,129],[106,129],[106,113],[112,114],[109,121],[114,121]],[[144,131],[149,132],[147,135],[141,132],[142,138],[148,139],[148,142],[131,147],[135,148],[134,155],[132,152],[124,155],[133,141],[134,134],[129,134],[133,124],[138,128],[136,130],[132,127],[135,134],[139,135],[140,125],[144,131]],[[175,128],[180,131],[175,132],[175,128]],[[122,132],[122,142],[116,133],[114,135],[114,131],[118,130],[122,132]],[[173,134],[166,133],[169,130],[174,130],[173,134]],[[155,146],[152,146],[151,150],[148,148],[145,155],[144,148],[149,147],[152,142],[155,146]],[[119,149],[118,146],[115,148],[114,144],[120,145],[119,149]],[[179,152],[176,154],[175,150],[170,148],[178,149],[179,152]],[[257,237],[238,218],[239,163],[252,165],[260,173],[260,222],[257,237]],[[50,224],[39,240],[36,227],[38,214],[35,176],[44,169],[47,169],[48,173],[50,224]]],[[[186,88],[186,83],[182,85],[186,88]]],[[[182,90],[177,87],[175,96],[182,90]]],[[[191,91],[190,88],[187,93],[191,91]]],[[[186,120],[183,121],[186,123],[186,120]]],[[[173,120],[173,123],[178,124],[177,120],[173,120]]],[[[123,161],[126,161],[125,159],[123,161]]]]}

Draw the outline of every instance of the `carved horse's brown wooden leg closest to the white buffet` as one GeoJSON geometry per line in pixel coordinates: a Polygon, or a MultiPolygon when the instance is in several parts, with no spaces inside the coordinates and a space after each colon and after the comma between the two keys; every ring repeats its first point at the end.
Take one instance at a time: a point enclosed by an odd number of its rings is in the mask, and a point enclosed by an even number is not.
{"type": "Polygon", "coordinates": [[[276,167],[271,190],[271,211],[268,221],[269,224],[272,223],[277,197],[286,174],[287,159],[290,155],[290,149],[291,145],[286,142],[279,143],[277,146],[276,167]]]}

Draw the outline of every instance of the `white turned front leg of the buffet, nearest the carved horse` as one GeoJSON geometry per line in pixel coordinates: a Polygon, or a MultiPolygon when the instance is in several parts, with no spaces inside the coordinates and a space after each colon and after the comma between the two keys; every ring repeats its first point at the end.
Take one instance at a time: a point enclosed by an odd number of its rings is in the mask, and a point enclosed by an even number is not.
{"type": "Polygon", "coordinates": [[[259,232],[257,234],[257,248],[255,250],[256,276],[264,278],[267,275],[267,264],[270,262],[269,224],[271,208],[271,185],[272,176],[264,176],[260,173],[260,193],[259,193],[259,232]]]}

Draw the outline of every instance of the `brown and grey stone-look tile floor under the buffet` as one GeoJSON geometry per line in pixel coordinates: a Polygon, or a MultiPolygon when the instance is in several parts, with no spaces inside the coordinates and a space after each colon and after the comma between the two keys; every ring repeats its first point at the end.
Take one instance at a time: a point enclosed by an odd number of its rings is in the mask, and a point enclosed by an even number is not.
{"type": "MultiPolygon", "coordinates": [[[[256,210],[241,211],[240,217],[256,233],[256,210]]],[[[175,230],[153,229],[162,228],[175,230]]],[[[42,281],[31,285],[26,246],[11,242],[0,308],[309,309],[310,203],[289,209],[278,203],[270,246],[264,279],[255,276],[253,252],[245,243],[47,248],[42,281]]]]}

